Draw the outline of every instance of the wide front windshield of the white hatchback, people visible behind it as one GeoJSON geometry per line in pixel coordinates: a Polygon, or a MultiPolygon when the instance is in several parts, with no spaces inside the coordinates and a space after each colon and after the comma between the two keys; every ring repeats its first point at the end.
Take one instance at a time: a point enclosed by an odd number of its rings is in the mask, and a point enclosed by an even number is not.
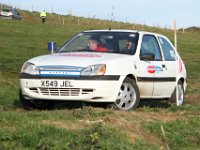
{"type": "Polygon", "coordinates": [[[58,53],[89,51],[134,55],[137,43],[138,33],[83,32],[64,44],[58,53]]]}

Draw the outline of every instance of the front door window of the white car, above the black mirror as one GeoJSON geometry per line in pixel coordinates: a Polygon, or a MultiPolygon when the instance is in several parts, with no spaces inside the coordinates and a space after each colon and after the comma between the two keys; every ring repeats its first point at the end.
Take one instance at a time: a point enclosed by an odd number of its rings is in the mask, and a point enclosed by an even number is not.
{"type": "Polygon", "coordinates": [[[162,60],[160,48],[157,39],[153,35],[144,35],[142,37],[142,45],[140,55],[151,53],[155,55],[155,60],[162,60]]]}

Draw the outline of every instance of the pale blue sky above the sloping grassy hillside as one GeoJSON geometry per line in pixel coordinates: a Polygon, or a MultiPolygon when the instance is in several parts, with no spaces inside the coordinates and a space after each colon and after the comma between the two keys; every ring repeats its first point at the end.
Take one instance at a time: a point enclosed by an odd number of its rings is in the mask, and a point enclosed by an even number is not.
{"type": "Polygon", "coordinates": [[[200,0],[0,0],[20,9],[173,28],[200,27],[200,0]]]}

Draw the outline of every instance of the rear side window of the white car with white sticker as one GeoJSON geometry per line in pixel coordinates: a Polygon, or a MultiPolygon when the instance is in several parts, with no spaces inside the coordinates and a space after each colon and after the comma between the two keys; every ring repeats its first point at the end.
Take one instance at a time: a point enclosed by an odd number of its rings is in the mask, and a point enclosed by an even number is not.
{"type": "Polygon", "coordinates": [[[160,41],[160,45],[162,47],[165,60],[175,61],[174,48],[170,45],[170,43],[165,38],[159,37],[158,39],[160,41]]]}

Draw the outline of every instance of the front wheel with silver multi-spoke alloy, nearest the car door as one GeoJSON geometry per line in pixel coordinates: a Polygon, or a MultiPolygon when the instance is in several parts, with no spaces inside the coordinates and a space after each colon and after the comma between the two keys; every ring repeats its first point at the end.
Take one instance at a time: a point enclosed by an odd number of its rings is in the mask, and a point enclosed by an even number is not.
{"type": "Polygon", "coordinates": [[[140,102],[140,92],[137,84],[130,78],[123,81],[115,106],[120,110],[131,110],[137,108],[140,102]]]}

